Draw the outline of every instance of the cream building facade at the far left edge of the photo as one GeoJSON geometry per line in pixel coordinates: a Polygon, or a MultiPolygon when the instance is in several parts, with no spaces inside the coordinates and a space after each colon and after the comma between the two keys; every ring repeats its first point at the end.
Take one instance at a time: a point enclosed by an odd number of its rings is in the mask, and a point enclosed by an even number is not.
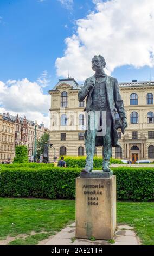
{"type": "Polygon", "coordinates": [[[9,114],[0,114],[0,162],[14,159],[15,123],[9,114]]]}

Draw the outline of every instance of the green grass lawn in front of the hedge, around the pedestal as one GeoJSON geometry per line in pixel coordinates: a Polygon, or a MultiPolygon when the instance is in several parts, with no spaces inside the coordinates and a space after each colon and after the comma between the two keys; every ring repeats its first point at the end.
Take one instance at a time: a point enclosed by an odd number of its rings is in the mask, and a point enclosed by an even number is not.
{"type": "MultiPolygon", "coordinates": [[[[27,235],[11,245],[35,245],[74,220],[74,200],[0,198],[0,240],[27,235]]],[[[143,245],[154,245],[154,202],[118,202],[117,222],[134,227],[143,245]]]]}

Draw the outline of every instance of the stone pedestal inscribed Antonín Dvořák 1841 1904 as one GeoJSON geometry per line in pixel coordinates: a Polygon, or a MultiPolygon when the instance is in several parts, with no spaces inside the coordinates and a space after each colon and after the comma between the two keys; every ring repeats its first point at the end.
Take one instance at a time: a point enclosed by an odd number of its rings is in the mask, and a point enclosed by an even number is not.
{"type": "Polygon", "coordinates": [[[76,178],[76,237],[109,240],[115,230],[116,176],[76,178]]]}

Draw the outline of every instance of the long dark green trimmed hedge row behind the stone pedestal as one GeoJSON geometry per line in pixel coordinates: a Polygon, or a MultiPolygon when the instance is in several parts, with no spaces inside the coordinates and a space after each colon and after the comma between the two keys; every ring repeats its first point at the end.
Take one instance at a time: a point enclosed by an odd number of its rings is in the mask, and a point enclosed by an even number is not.
{"type": "MultiPolygon", "coordinates": [[[[154,199],[153,168],[117,167],[112,170],[117,176],[118,200],[154,199]]],[[[1,168],[0,196],[74,199],[75,179],[79,174],[79,168],[1,168]]]]}

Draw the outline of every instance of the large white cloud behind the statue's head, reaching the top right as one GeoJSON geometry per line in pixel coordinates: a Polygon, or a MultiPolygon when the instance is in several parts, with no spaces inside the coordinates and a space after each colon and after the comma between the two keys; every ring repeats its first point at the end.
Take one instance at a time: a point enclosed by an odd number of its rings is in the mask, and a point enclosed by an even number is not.
{"type": "Polygon", "coordinates": [[[64,56],[57,58],[57,75],[83,81],[93,74],[91,59],[105,57],[108,73],[123,65],[154,66],[154,1],[93,0],[95,11],[76,21],[76,34],[66,38],[64,56]]]}

